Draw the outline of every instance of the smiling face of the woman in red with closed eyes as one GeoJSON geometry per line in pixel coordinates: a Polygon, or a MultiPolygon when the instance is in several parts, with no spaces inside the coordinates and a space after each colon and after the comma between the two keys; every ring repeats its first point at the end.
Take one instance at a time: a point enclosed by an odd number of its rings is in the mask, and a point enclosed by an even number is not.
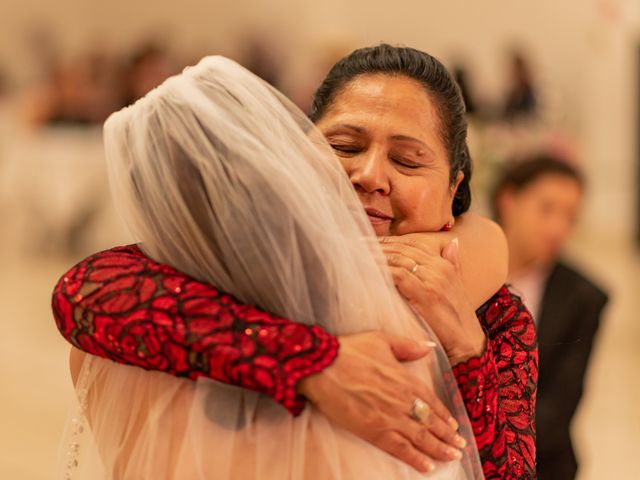
{"type": "Polygon", "coordinates": [[[362,75],[316,123],[342,162],[376,235],[433,232],[453,221],[440,119],[424,88],[404,76],[362,75]]]}

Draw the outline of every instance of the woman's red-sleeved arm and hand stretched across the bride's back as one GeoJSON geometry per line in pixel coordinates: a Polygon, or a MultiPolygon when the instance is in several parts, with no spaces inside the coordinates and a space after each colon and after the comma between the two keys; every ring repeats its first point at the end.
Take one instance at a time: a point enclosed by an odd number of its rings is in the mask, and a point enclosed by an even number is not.
{"type": "Polygon", "coordinates": [[[135,246],[69,270],[54,290],[53,312],[62,335],[93,355],[257,390],[293,414],[304,407],[298,388],[329,419],[420,471],[433,466],[427,457],[455,458],[463,443],[449,412],[400,363],[425,356],[429,346],[365,332],[342,337],[334,361],[338,339],[319,327],[239,304],[135,246]],[[409,419],[414,398],[429,402],[441,422],[409,419]]]}

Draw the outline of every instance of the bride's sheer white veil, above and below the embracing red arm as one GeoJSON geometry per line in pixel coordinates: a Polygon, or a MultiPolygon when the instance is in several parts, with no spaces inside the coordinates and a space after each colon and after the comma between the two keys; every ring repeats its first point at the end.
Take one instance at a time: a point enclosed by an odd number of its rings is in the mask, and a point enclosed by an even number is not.
{"type": "MultiPolygon", "coordinates": [[[[155,260],[336,335],[382,330],[437,342],[396,292],[322,135],[233,61],[206,57],[168,79],[113,114],[104,143],[116,206],[155,260]]],[[[436,350],[407,368],[435,389],[475,445],[447,358],[436,350]]],[[[264,395],[212,380],[86,356],[76,394],[63,478],[425,477],[313,406],[292,417],[264,395]]],[[[482,478],[477,451],[438,464],[429,478],[482,478]]]]}

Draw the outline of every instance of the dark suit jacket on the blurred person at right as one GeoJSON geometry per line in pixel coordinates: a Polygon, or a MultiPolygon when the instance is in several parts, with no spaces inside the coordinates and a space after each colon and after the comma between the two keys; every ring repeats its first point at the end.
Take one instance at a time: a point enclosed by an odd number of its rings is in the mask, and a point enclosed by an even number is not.
{"type": "Polygon", "coordinates": [[[538,318],[540,480],[575,478],[578,465],[569,427],[582,397],[591,347],[606,304],[607,295],[589,279],[564,263],[555,265],[538,318]]]}

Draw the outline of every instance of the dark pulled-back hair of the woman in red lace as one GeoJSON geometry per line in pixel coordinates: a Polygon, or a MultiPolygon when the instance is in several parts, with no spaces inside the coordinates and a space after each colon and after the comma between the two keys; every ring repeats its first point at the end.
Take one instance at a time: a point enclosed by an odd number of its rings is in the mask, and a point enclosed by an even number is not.
{"type": "Polygon", "coordinates": [[[420,83],[433,100],[440,119],[440,136],[449,155],[451,184],[464,173],[453,199],[453,215],[471,205],[471,156],[467,146],[467,120],[460,89],[447,69],[436,58],[414,48],[381,44],[361,48],[336,63],[316,91],[310,118],[322,118],[336,96],[360,75],[404,75],[420,83]]]}

